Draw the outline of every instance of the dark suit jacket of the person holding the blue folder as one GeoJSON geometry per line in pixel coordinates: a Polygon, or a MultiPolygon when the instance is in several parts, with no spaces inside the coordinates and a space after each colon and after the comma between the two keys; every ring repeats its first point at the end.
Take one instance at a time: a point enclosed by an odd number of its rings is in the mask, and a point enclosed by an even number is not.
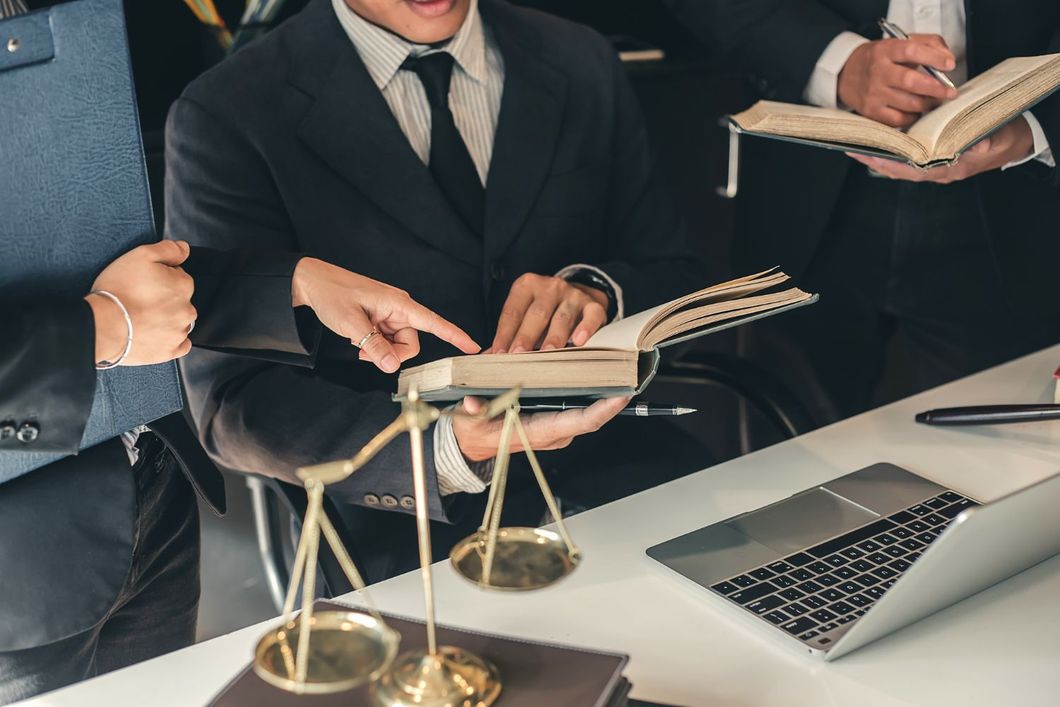
{"type": "MultiPolygon", "coordinates": [[[[277,356],[312,357],[315,329],[298,330],[290,276],[298,257],[195,248],[184,267],[196,280],[197,344],[238,348],[247,339],[277,356]],[[244,316],[258,301],[271,316],[244,316]],[[303,339],[305,343],[303,343],[303,339]]],[[[41,646],[86,631],[113,604],[129,570],[136,479],[120,440],[77,454],[95,390],[95,328],[88,304],[11,303],[0,318],[0,421],[32,424],[35,439],[0,439],[5,449],[69,453],[0,485],[0,651],[41,646]]],[[[151,425],[204,500],[225,509],[224,480],[178,413],[151,425]]],[[[25,436],[23,435],[23,438],[25,436]]]]}

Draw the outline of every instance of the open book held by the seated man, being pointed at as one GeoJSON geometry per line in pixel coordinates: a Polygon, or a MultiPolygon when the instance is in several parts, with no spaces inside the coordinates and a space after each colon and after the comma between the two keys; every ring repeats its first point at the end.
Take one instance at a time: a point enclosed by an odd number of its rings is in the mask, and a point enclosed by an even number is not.
{"type": "Polygon", "coordinates": [[[644,310],[598,331],[585,346],[520,354],[453,356],[402,371],[399,400],[416,384],[421,397],[453,401],[497,395],[514,386],[525,397],[632,395],[651,382],[658,349],[816,301],[776,268],[723,282],[644,310]],[[772,291],[765,291],[772,290],[772,291]]]}

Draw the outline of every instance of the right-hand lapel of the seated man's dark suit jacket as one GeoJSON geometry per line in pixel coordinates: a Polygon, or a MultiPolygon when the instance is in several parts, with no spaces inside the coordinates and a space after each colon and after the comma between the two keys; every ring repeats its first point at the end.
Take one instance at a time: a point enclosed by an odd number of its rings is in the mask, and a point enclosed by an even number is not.
{"type": "Polygon", "coordinates": [[[501,254],[518,234],[548,177],[563,125],[567,79],[545,64],[541,38],[510,8],[482,2],[482,17],[505,59],[505,91],[485,187],[485,254],[501,254]]]}

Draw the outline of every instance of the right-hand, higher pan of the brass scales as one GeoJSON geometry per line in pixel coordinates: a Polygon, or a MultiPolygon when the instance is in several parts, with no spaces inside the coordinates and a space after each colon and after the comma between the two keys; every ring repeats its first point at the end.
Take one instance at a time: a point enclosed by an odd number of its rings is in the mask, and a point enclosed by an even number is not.
{"type": "Polygon", "coordinates": [[[449,562],[457,573],[485,589],[543,589],[575,571],[581,555],[571,553],[558,533],[540,528],[500,528],[490,581],[482,578],[485,533],[469,535],[453,548],[449,562]]]}

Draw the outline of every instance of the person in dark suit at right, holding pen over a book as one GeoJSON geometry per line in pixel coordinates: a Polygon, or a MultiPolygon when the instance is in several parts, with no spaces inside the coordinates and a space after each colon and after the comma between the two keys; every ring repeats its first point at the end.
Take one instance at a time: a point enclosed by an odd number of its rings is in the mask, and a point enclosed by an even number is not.
{"type": "MultiPolygon", "coordinates": [[[[1052,0],[667,0],[738,57],[761,98],[841,107],[905,127],[1005,58],[1060,51],[1052,0]],[[886,16],[913,35],[885,39],[886,16]]],[[[750,332],[826,423],[1060,338],[1056,279],[1060,95],[953,166],[772,140],[742,141],[741,267],[779,262],[813,311],[750,332]]]]}

